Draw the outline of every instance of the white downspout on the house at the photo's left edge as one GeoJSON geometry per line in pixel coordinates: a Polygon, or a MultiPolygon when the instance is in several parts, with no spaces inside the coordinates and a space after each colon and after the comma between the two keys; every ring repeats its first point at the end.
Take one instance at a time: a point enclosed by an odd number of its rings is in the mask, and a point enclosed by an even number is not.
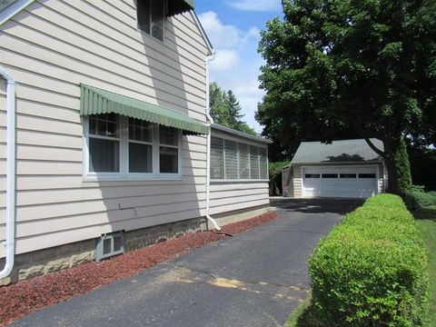
{"type": "Polygon", "coordinates": [[[0,279],[9,276],[14,267],[15,255],[15,80],[0,65],[0,75],[6,80],[6,247],[5,268],[0,279]]]}

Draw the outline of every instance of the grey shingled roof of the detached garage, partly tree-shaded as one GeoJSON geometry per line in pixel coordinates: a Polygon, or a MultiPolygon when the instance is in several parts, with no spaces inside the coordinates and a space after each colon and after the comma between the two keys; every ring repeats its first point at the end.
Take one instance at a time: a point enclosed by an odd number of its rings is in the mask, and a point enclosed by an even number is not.
{"type": "MultiPolygon", "coordinates": [[[[372,138],[372,144],[383,151],[380,140],[372,138]]],[[[321,142],[302,142],[293,155],[291,163],[359,163],[381,162],[364,139],[321,142]]]]}

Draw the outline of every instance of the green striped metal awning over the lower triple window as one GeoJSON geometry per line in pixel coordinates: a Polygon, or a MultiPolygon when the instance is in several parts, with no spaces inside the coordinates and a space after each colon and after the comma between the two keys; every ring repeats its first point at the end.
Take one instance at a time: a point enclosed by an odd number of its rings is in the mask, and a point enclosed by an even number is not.
{"type": "Polygon", "coordinates": [[[80,84],[80,115],[111,113],[178,128],[189,132],[187,134],[209,134],[209,128],[205,124],[186,114],[98,87],[80,84]]]}

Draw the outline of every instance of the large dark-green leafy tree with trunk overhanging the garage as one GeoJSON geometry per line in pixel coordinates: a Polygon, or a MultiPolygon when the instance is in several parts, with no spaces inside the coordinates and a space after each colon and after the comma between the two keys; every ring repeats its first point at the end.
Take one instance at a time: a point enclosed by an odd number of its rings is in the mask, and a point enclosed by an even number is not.
{"type": "Polygon", "coordinates": [[[266,90],[256,114],[282,144],[338,134],[365,138],[399,193],[395,155],[404,134],[434,132],[435,0],[282,0],[259,51],[266,90]],[[425,117],[426,122],[422,123],[425,117]],[[384,150],[369,140],[381,139],[384,150]]]}

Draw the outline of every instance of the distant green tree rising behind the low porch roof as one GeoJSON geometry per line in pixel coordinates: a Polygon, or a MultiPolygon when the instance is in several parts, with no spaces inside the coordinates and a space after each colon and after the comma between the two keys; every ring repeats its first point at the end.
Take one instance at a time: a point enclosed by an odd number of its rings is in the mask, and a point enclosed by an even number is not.
{"type": "Polygon", "coordinates": [[[243,118],[241,104],[239,104],[233,91],[223,91],[215,82],[211,83],[209,87],[209,105],[214,123],[256,135],[254,129],[241,120],[243,118]]]}

